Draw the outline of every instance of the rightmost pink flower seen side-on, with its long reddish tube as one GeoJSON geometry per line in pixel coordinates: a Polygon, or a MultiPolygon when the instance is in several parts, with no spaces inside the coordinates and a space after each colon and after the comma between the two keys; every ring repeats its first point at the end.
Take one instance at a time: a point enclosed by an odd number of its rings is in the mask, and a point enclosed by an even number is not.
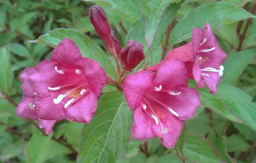
{"type": "Polygon", "coordinates": [[[162,62],[149,67],[148,70],[155,72],[165,61],[171,58],[179,58],[186,65],[188,77],[195,79],[198,88],[204,88],[205,83],[210,88],[210,93],[216,94],[216,88],[224,70],[221,64],[225,60],[226,54],[216,42],[216,38],[210,29],[210,24],[205,24],[204,28],[205,30],[193,28],[192,42],[179,48],[174,48],[162,62]]]}

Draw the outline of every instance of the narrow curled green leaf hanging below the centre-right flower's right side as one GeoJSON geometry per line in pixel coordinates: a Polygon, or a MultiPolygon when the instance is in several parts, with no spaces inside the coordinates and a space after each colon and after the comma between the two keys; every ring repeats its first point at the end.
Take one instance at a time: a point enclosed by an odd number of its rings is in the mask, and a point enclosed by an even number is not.
{"type": "Polygon", "coordinates": [[[188,133],[188,124],[186,121],[184,121],[182,132],[175,145],[175,151],[177,153],[177,156],[180,157],[180,160],[182,160],[183,163],[185,163],[185,158],[183,156],[182,149],[183,149],[184,143],[186,142],[187,133],[188,133]]]}

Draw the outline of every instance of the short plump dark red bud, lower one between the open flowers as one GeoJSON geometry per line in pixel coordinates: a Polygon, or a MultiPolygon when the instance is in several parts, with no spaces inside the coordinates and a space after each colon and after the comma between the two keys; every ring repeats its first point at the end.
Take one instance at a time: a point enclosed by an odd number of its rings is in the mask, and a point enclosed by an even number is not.
{"type": "Polygon", "coordinates": [[[133,39],[128,41],[128,44],[119,54],[125,69],[134,69],[141,60],[145,59],[143,48],[141,43],[135,42],[133,39]]]}

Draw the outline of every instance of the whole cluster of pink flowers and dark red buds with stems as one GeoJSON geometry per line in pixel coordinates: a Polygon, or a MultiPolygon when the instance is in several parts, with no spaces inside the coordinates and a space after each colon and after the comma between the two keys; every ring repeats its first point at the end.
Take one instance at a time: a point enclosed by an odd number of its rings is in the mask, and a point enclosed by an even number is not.
{"type": "Polygon", "coordinates": [[[162,62],[130,74],[145,59],[143,45],[131,39],[122,49],[100,6],[91,7],[89,19],[116,59],[118,80],[107,76],[95,60],[82,57],[76,43],[65,38],[52,51],[50,60],[28,67],[21,74],[24,97],[16,114],[38,121],[46,134],[62,119],[88,124],[104,85],[113,85],[123,90],[134,111],[134,138],[159,137],[166,148],[172,148],[183,130],[183,121],[193,118],[200,106],[198,91],[188,87],[189,78],[195,79],[198,88],[204,88],[205,83],[210,93],[216,94],[223,74],[221,64],[226,54],[210,25],[206,24],[205,30],[193,29],[192,42],[173,49],[162,62]]]}

